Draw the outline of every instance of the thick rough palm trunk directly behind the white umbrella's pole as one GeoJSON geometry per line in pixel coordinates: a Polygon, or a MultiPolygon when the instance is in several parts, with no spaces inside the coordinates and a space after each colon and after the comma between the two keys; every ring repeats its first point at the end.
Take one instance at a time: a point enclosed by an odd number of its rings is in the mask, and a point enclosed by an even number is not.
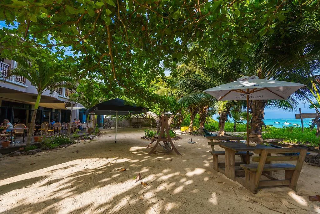
{"type": "Polygon", "coordinates": [[[262,144],[262,131],[264,120],[264,108],[266,107],[266,100],[252,100],[249,104],[252,118],[249,130],[249,141],[262,144]]]}

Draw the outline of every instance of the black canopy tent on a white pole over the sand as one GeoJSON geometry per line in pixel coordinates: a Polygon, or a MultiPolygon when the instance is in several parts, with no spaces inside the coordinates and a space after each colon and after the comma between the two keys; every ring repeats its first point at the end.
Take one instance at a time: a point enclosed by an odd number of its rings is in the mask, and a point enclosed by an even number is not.
{"type": "Polygon", "coordinates": [[[117,142],[117,125],[118,115],[141,114],[149,111],[148,108],[138,107],[135,104],[130,105],[127,101],[115,98],[99,104],[87,110],[87,114],[97,115],[116,115],[116,142],[117,142]]]}

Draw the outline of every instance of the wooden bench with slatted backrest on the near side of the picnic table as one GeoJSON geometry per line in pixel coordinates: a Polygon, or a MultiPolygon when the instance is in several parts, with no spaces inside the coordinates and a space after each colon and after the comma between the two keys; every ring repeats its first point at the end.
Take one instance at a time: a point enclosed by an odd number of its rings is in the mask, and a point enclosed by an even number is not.
{"type": "Polygon", "coordinates": [[[257,193],[258,188],[263,186],[289,186],[295,190],[302,169],[303,161],[306,157],[307,148],[268,148],[257,149],[255,153],[260,153],[260,157],[252,157],[252,161],[258,164],[241,164],[245,170],[245,188],[252,193],[257,193]],[[299,155],[292,156],[271,156],[272,153],[300,152],[299,155]],[[272,161],[294,161],[296,165],[289,163],[271,163],[272,161]],[[278,180],[271,176],[272,171],[284,171],[285,179],[278,180]],[[261,176],[265,176],[270,180],[260,180],[261,176]]]}

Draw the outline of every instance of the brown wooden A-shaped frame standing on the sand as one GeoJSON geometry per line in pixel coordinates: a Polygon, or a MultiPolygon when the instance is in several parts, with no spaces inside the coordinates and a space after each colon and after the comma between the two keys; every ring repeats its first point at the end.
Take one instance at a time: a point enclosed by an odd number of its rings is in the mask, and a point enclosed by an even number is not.
{"type": "Polygon", "coordinates": [[[164,150],[168,152],[171,152],[172,150],[174,150],[177,153],[177,155],[181,155],[176,149],[176,147],[174,146],[174,144],[172,143],[170,133],[169,133],[167,116],[164,116],[164,115],[162,116],[160,126],[157,129],[157,133],[155,137],[151,140],[151,143],[147,146],[147,148],[149,148],[155,140],[157,140],[156,145],[152,148],[152,150],[148,154],[153,154],[153,152],[156,150],[156,147],[160,145],[164,150]],[[165,136],[165,134],[167,136],[165,136]],[[160,144],[161,141],[164,143],[164,145],[160,144]]]}

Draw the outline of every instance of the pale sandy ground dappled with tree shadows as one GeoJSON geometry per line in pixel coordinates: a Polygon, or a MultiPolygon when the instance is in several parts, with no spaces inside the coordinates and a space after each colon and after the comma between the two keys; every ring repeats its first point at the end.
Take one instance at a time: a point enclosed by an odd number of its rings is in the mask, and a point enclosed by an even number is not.
{"type": "Polygon", "coordinates": [[[308,200],[320,192],[318,167],[304,164],[297,192],[273,187],[252,194],[212,169],[204,137],[188,144],[191,136],[180,135],[175,145],[182,156],[161,147],[149,156],[143,129],[120,128],[117,143],[114,129],[104,132],[56,151],[3,158],[0,212],[320,213],[320,202],[308,200]],[[133,179],[138,172],[147,186],[133,179]]]}

